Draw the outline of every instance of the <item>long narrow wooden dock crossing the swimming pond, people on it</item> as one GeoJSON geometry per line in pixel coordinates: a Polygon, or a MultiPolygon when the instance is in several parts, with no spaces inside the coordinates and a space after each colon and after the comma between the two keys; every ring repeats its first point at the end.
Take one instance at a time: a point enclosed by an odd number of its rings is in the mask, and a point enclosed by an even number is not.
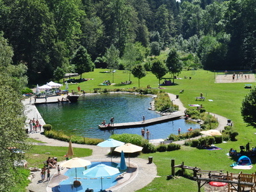
{"type": "Polygon", "coordinates": [[[114,126],[110,126],[110,127],[105,125],[99,125],[99,129],[109,130],[109,129],[123,129],[123,128],[134,128],[134,127],[147,127],[148,125],[169,122],[170,120],[175,120],[180,118],[180,116],[184,116],[184,113],[177,111],[172,113],[171,115],[159,116],[157,118],[151,118],[151,119],[145,120],[144,123],[141,120],[140,122],[127,122],[127,123],[114,124],[114,126]]]}

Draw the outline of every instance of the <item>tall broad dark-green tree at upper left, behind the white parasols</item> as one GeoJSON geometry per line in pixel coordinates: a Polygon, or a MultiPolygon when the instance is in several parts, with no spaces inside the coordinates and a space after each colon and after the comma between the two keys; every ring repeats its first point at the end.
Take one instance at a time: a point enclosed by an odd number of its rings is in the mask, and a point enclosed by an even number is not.
{"type": "Polygon", "coordinates": [[[8,8],[0,19],[0,29],[12,44],[13,63],[26,63],[30,82],[52,78],[54,69],[62,63],[51,61],[57,33],[47,4],[44,0],[11,1],[8,8]]]}

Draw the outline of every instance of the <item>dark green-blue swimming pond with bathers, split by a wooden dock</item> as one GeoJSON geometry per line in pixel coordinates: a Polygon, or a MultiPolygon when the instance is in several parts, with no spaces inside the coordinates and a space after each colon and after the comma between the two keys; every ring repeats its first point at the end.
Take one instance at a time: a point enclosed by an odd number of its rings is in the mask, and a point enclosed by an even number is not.
{"type": "MultiPolygon", "coordinates": [[[[46,124],[51,124],[54,130],[61,130],[67,135],[79,135],[88,138],[108,139],[115,134],[141,134],[141,128],[115,129],[114,131],[100,131],[98,125],[102,120],[108,124],[110,118],[115,123],[142,121],[161,116],[150,108],[151,97],[134,94],[99,94],[86,95],[77,102],[61,102],[52,104],[38,104],[36,108],[41,113],[46,124]]],[[[165,122],[145,127],[150,131],[150,140],[167,138],[171,133],[186,132],[189,127],[200,128],[199,124],[187,123],[184,119],[165,122]]]]}

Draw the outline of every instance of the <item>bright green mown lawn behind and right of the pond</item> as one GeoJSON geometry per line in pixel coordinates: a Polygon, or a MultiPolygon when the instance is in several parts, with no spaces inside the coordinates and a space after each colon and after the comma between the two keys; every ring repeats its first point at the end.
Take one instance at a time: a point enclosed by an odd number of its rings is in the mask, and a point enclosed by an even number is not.
{"type": "MultiPolygon", "coordinates": [[[[95,69],[94,72],[88,72],[83,74],[84,78],[91,78],[89,80],[79,84],[69,85],[69,90],[77,91],[77,86],[81,86],[81,90],[85,92],[93,92],[93,88],[107,88],[112,90],[115,88],[138,88],[138,79],[131,75],[132,84],[120,84],[122,81],[129,80],[129,74],[122,70],[117,70],[115,74],[112,73],[100,73],[106,69],[95,69]],[[111,86],[99,86],[105,80],[111,81],[115,85],[111,86]]],[[[250,89],[244,88],[244,83],[214,83],[214,72],[205,70],[196,71],[184,71],[179,74],[178,77],[182,79],[175,79],[175,86],[162,86],[166,92],[179,95],[179,99],[182,101],[186,108],[189,108],[188,104],[203,104],[206,111],[216,113],[218,115],[229,118],[234,123],[234,127],[239,135],[237,141],[228,141],[227,143],[218,144],[218,147],[222,150],[199,150],[197,148],[191,148],[182,146],[181,150],[173,152],[156,152],[154,154],[141,154],[141,158],[147,159],[148,156],[153,157],[154,163],[157,165],[157,177],[147,187],[139,191],[197,191],[197,184],[193,180],[186,179],[184,177],[177,177],[175,179],[166,180],[166,175],[170,175],[171,159],[175,159],[175,164],[180,164],[184,161],[184,164],[188,166],[196,166],[202,170],[223,170],[223,172],[237,173],[239,170],[234,170],[230,167],[230,164],[234,163],[237,159],[232,159],[226,154],[230,148],[234,148],[239,151],[240,145],[246,145],[250,142],[250,147],[256,146],[256,130],[253,127],[247,127],[243,122],[241,116],[241,102],[244,96],[250,92],[250,89]],[[184,79],[184,76],[191,77],[191,79],[184,79]],[[179,93],[180,90],[184,90],[184,93],[179,93]],[[195,97],[200,96],[200,92],[203,93],[205,101],[196,101],[195,97]],[[213,101],[209,101],[209,99],[213,101]]],[[[165,77],[170,77],[170,74],[165,77]]],[[[77,77],[78,78],[78,77],[77,77]]],[[[161,81],[162,83],[162,81],[161,81]]],[[[140,79],[140,87],[146,88],[150,84],[152,88],[158,87],[158,79],[152,73],[147,72],[147,76],[140,79]]],[[[255,86],[255,83],[250,83],[255,86]]],[[[255,159],[252,158],[253,164],[255,159]]],[[[243,170],[244,173],[253,173],[256,171],[256,166],[252,170],[243,170]]]]}

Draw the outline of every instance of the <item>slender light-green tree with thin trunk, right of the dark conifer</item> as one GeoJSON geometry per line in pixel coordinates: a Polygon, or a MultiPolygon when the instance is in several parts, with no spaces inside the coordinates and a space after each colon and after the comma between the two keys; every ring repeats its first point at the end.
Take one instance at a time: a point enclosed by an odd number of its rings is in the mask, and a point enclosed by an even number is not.
{"type": "Polygon", "coordinates": [[[119,54],[120,52],[116,47],[112,44],[109,49],[107,49],[107,52],[105,54],[106,63],[108,65],[108,68],[112,70],[112,82],[114,83],[114,71],[118,69],[118,60],[119,60],[119,54]]]}

